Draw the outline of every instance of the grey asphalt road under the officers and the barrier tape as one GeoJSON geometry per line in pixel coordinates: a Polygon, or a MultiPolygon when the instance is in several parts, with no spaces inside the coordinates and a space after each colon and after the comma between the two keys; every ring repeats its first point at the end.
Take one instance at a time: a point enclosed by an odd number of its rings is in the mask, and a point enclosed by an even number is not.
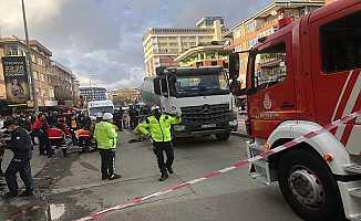
{"type": "MultiPolygon", "coordinates": [[[[237,136],[231,136],[227,143],[218,143],[209,137],[182,140],[175,148],[175,175],[165,182],[158,182],[159,173],[151,144],[128,144],[134,138],[128,131],[123,131],[116,152],[116,171],[123,176],[122,179],[101,181],[97,152],[74,152],[69,158],[55,158],[38,175],[38,186],[41,186],[42,194],[35,207],[37,212],[28,211],[22,206],[21,217],[17,215],[17,220],[41,220],[39,213],[42,211],[43,220],[74,220],[179,181],[202,177],[246,158],[246,140],[237,136]],[[44,186],[42,182],[47,180],[51,181],[44,186]]],[[[141,206],[106,214],[99,220],[300,220],[285,202],[277,186],[265,187],[258,183],[248,177],[247,170],[248,168],[234,170],[154,198],[141,206]]],[[[11,214],[13,213],[12,211],[11,214]]]]}

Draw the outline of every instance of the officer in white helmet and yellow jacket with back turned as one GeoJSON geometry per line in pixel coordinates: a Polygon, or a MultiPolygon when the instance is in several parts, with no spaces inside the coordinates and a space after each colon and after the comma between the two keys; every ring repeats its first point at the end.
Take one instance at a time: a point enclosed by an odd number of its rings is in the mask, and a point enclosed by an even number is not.
{"type": "Polygon", "coordinates": [[[112,124],[113,115],[104,113],[103,119],[95,125],[94,137],[101,155],[102,180],[114,180],[122,176],[115,173],[116,127],[112,124]]]}

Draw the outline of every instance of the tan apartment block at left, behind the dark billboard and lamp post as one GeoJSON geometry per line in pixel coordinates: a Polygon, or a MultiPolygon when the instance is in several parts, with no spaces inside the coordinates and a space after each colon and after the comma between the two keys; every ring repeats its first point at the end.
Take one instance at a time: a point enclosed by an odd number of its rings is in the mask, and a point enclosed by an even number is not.
{"type": "MultiPolygon", "coordinates": [[[[75,76],[71,73],[71,71],[63,67],[61,64],[53,62],[52,52],[39,41],[31,40],[29,45],[31,50],[30,56],[32,74],[35,82],[39,107],[49,107],[63,104],[62,101],[65,97],[66,99],[78,99],[79,82],[75,81],[75,76]],[[60,91],[65,93],[66,96],[64,97],[60,91]],[[68,96],[68,93],[72,95],[68,96]],[[61,103],[58,103],[58,98],[61,103]]],[[[24,41],[18,39],[17,36],[0,39],[0,57],[2,61],[9,60],[9,57],[24,57],[25,51],[27,45],[24,41]]],[[[29,84],[29,90],[31,91],[29,73],[25,72],[25,75],[28,81],[24,83],[24,85],[29,84]]],[[[6,88],[3,62],[0,62],[0,104],[3,108],[9,106],[33,106],[32,97],[22,104],[12,104],[9,102],[6,88]]]]}

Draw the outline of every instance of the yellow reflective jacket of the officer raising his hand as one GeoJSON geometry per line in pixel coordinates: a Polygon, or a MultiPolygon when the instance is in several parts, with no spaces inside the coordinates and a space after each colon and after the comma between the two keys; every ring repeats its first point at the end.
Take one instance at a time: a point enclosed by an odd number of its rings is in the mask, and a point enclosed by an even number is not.
{"type": "Polygon", "coordinates": [[[159,120],[155,116],[149,116],[135,128],[135,131],[140,131],[143,136],[151,135],[153,141],[171,141],[171,126],[180,122],[180,116],[172,117],[162,114],[159,120]]]}

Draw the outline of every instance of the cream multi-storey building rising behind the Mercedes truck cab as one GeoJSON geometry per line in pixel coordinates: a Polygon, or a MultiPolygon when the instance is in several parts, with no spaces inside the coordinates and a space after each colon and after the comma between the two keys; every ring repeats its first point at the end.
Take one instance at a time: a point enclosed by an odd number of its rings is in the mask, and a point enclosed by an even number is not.
{"type": "Polygon", "coordinates": [[[143,36],[146,76],[157,66],[178,66],[174,59],[189,48],[221,40],[225,23],[221,17],[205,17],[195,28],[151,28],[143,36]]]}

